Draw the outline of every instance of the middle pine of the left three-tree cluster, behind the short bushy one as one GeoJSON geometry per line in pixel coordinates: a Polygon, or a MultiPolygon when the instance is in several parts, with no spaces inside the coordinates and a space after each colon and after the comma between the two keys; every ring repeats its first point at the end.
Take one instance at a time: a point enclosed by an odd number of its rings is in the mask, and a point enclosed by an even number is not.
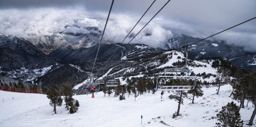
{"type": "Polygon", "coordinates": [[[62,83],[62,90],[61,92],[63,93],[64,96],[64,101],[66,102],[66,107],[67,110],[69,110],[69,103],[71,103],[72,96],[73,96],[73,90],[72,90],[72,86],[68,83],[68,82],[63,82],[62,83]]]}

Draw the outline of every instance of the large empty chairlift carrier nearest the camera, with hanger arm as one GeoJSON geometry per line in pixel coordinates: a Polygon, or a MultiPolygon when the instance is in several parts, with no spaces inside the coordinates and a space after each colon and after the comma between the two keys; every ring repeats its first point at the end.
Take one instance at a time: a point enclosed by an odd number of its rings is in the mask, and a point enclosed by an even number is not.
{"type": "Polygon", "coordinates": [[[169,68],[169,69],[164,69],[164,71],[160,71],[158,72],[158,76],[156,79],[156,90],[158,91],[163,91],[163,90],[176,90],[176,91],[180,91],[180,90],[193,90],[196,86],[196,78],[197,76],[187,76],[189,73],[194,73],[193,71],[186,69],[187,66],[187,62],[188,62],[188,53],[187,53],[187,47],[189,45],[185,45],[182,47],[182,49],[186,52],[186,62],[184,67],[182,68],[169,68]],[[166,72],[184,72],[187,73],[186,76],[166,76],[165,73],[166,72]],[[160,75],[160,73],[164,73],[164,75],[160,75]],[[158,82],[158,79],[160,79],[160,81],[158,82]],[[181,80],[181,79],[193,79],[194,83],[193,85],[161,85],[161,81],[166,81],[166,80],[181,80]]]}

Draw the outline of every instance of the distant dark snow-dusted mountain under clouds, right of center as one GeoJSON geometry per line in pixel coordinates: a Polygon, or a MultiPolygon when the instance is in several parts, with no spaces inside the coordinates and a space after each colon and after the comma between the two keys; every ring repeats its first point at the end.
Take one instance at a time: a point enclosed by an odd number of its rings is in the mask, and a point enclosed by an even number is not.
{"type": "MultiPolygon", "coordinates": [[[[183,45],[191,44],[201,40],[201,38],[194,38],[187,35],[174,35],[167,42],[170,49],[178,49],[183,45]]],[[[245,55],[242,47],[227,45],[223,41],[211,41],[203,40],[202,42],[196,43],[189,46],[191,52],[189,57],[191,58],[203,58],[203,57],[226,57],[228,59],[241,57],[245,55]]]]}

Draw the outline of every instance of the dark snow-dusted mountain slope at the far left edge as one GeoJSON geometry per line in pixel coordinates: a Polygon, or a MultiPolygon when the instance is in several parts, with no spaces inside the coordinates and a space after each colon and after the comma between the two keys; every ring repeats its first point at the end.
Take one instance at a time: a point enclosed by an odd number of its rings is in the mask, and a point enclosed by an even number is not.
{"type": "Polygon", "coordinates": [[[24,38],[0,35],[0,75],[32,81],[61,66],[24,38]]]}

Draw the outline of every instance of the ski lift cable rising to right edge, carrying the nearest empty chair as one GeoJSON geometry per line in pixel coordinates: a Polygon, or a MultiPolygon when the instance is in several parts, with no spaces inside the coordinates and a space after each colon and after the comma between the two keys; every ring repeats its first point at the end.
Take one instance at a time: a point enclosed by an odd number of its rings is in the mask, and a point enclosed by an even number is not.
{"type": "MultiPolygon", "coordinates": [[[[212,36],[215,36],[215,35],[217,35],[217,34],[220,34],[220,33],[224,32],[224,31],[226,31],[226,30],[229,30],[229,29],[231,29],[231,28],[234,28],[234,27],[236,27],[236,26],[239,26],[239,25],[241,25],[241,24],[244,24],[244,23],[246,23],[246,22],[248,22],[248,21],[250,21],[250,20],[253,20],[253,19],[255,19],[255,18],[256,18],[256,17],[251,18],[251,19],[249,19],[249,20],[246,20],[246,21],[244,21],[244,22],[241,22],[240,24],[237,24],[237,25],[235,25],[235,26],[233,26],[233,27],[227,28],[227,29],[225,29],[225,30],[223,30],[223,31],[220,31],[219,33],[216,33],[216,34],[214,34],[214,35],[211,35],[211,36],[209,36],[209,37],[212,37],[212,36]]],[[[170,52],[170,53],[166,53],[166,54],[164,54],[164,55],[155,57],[154,59],[149,60],[149,61],[142,62],[141,64],[146,63],[146,62],[150,62],[150,61],[153,61],[153,60],[156,60],[156,59],[161,58],[161,57],[166,56],[166,55],[169,55],[169,54],[171,54],[171,53],[173,53],[173,52],[175,52],[175,51],[178,51],[178,50],[180,50],[180,49],[182,49],[182,48],[184,48],[184,47],[187,47],[187,46],[189,46],[189,45],[193,45],[193,44],[195,44],[195,43],[201,42],[202,40],[205,40],[205,39],[207,39],[207,38],[209,38],[209,37],[206,37],[206,38],[204,38],[204,39],[201,39],[201,40],[199,40],[199,41],[197,41],[197,42],[194,42],[194,43],[192,43],[192,44],[187,44],[187,45],[185,45],[185,46],[180,47],[179,49],[174,49],[174,50],[173,50],[172,52],[170,52]]],[[[136,67],[136,66],[139,66],[139,65],[141,65],[141,64],[138,64],[138,65],[135,65],[135,66],[132,66],[132,67],[136,67]]]]}

